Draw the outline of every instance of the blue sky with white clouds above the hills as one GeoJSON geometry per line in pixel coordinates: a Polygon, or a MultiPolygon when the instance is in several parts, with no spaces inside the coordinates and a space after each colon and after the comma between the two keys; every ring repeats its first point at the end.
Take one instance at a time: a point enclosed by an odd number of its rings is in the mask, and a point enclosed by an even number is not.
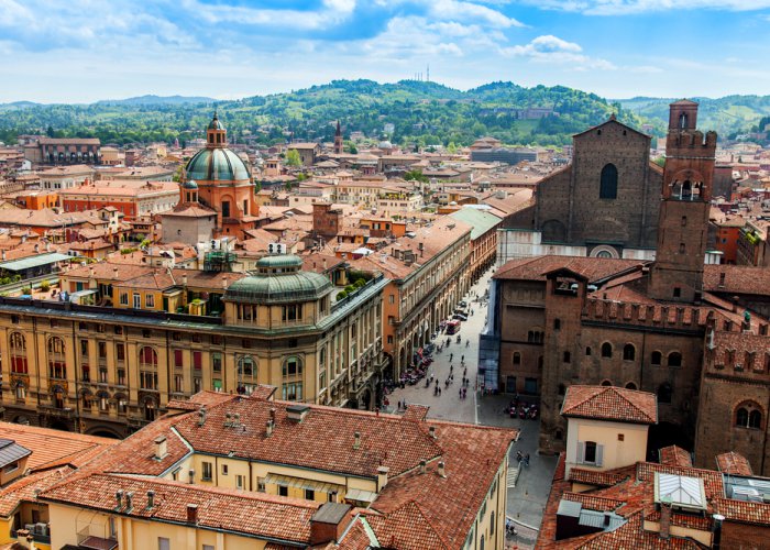
{"type": "Polygon", "coordinates": [[[0,102],[240,98],[426,73],[609,98],[770,94],[770,0],[0,0],[0,102]]]}

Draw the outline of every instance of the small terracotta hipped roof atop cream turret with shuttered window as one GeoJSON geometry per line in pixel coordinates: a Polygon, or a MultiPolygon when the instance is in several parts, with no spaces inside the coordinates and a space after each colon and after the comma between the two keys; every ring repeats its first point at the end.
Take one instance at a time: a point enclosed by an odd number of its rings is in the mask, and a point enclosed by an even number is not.
{"type": "Polygon", "coordinates": [[[570,386],[561,414],[619,422],[657,424],[654,394],[615,386],[570,386]]]}

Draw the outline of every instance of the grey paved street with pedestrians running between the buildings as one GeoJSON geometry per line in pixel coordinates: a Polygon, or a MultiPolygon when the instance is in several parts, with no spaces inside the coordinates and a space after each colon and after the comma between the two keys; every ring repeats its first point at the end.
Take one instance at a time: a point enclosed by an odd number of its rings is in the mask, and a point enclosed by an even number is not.
{"type": "Polygon", "coordinates": [[[508,537],[507,548],[526,549],[534,548],[537,532],[542,520],[542,512],[548,501],[548,493],[551,487],[553,471],[557,464],[556,457],[540,457],[537,454],[538,435],[540,429],[539,420],[521,420],[510,418],[504,414],[510,396],[486,395],[481,396],[474,391],[477,358],[479,358],[479,334],[484,328],[487,306],[473,299],[473,296],[483,297],[490,287],[490,279],[494,275],[490,268],[464,299],[473,310],[473,316],[462,323],[460,337],[462,342],[457,343],[457,334],[448,337],[439,334],[436,344],[443,342],[444,348],[440,353],[433,353],[433,363],[430,365],[428,376],[433,374],[435,381],[439,381],[441,395],[435,395],[435,385],[426,387],[425,381],[420,381],[414,386],[406,386],[404,389],[396,389],[388,395],[389,409],[397,411],[398,403],[406,400],[408,404],[427,405],[430,407],[429,418],[442,420],[453,420],[459,422],[479,424],[484,426],[498,426],[504,428],[518,428],[520,430],[519,440],[514,444],[510,457],[512,471],[509,472],[508,504],[506,516],[512,519],[518,531],[517,536],[508,537]],[[449,348],[446,345],[447,339],[451,338],[449,348]],[[466,341],[469,342],[466,345],[466,341]],[[465,367],[470,378],[470,385],[465,399],[461,399],[459,391],[462,387],[464,369],[461,361],[464,355],[465,367]],[[453,369],[452,369],[453,367],[453,369]],[[454,383],[446,387],[444,382],[454,374],[454,383]],[[516,451],[521,454],[529,454],[529,466],[520,465],[520,473],[517,472],[519,463],[516,460],[516,451]],[[516,479],[516,486],[513,480],[516,479]]]}

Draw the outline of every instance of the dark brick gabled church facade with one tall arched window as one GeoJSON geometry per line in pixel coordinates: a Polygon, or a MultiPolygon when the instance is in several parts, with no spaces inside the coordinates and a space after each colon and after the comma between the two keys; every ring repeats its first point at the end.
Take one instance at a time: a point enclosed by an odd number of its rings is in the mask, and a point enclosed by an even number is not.
{"type": "Polygon", "coordinates": [[[540,254],[652,260],[662,169],[650,136],[609,120],[573,136],[572,163],[503,221],[499,265],[540,254]]]}

